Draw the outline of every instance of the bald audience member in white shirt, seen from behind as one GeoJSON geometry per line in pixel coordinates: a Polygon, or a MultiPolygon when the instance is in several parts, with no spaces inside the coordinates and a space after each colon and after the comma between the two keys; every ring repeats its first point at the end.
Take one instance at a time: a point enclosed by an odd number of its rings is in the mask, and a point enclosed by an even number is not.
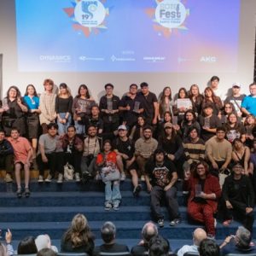
{"type": "Polygon", "coordinates": [[[193,236],[193,245],[184,245],[177,251],[177,256],[183,256],[185,253],[198,253],[198,248],[200,246],[201,241],[207,238],[207,233],[205,230],[201,228],[197,228],[192,233],[193,236]]]}

